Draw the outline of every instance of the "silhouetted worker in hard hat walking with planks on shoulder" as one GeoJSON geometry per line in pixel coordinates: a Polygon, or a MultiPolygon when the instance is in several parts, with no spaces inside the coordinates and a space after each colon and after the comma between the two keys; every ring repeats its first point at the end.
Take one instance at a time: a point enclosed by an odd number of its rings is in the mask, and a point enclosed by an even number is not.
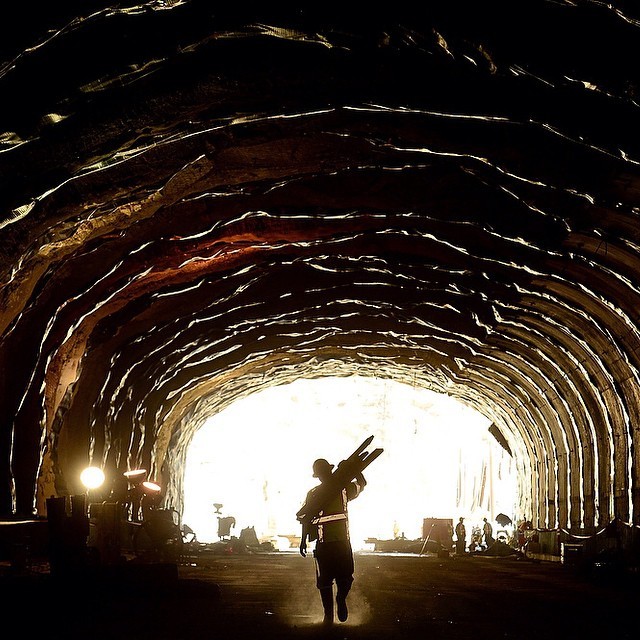
{"type": "Polygon", "coordinates": [[[338,620],[344,622],[348,616],[347,595],[353,584],[353,550],[349,538],[349,516],[347,502],[358,497],[367,481],[362,473],[344,488],[330,488],[326,498],[322,500],[322,508],[316,513],[306,511],[317,498],[318,491],[331,487],[334,465],[324,458],[313,463],[313,477],[321,482],[307,493],[302,508],[298,511],[298,519],[302,523],[302,539],[300,554],[307,555],[307,538],[316,541],[313,552],[316,563],[316,586],[320,591],[322,608],[324,610],[323,623],[333,624],[333,582],[336,583],[336,607],[338,620]]]}

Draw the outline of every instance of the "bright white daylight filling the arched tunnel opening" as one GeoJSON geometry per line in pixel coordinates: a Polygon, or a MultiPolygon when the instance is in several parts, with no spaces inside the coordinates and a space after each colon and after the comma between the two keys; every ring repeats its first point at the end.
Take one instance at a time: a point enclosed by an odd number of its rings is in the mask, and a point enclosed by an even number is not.
{"type": "Polygon", "coordinates": [[[253,528],[260,542],[295,549],[296,511],[317,484],[313,461],[337,465],[370,435],[384,452],[365,470],[366,490],[349,506],[354,549],[419,540],[424,519],[464,517],[470,532],[500,513],[515,522],[515,461],[489,426],[448,396],[389,380],[320,378],[273,387],[235,402],[196,433],[183,522],[201,542],[253,528]]]}

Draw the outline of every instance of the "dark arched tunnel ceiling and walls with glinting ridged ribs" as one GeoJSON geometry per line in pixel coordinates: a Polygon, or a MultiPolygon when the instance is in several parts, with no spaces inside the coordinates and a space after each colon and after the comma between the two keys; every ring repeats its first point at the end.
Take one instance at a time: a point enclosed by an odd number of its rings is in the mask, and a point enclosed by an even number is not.
{"type": "Polygon", "coordinates": [[[638,520],[634,3],[16,8],[0,512],[179,501],[206,415],[357,373],[489,417],[537,522],[638,520]]]}

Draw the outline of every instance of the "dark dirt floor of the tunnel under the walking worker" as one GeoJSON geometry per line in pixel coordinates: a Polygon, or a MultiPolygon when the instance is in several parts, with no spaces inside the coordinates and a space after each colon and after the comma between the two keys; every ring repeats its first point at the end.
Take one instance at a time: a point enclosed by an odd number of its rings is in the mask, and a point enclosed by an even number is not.
{"type": "Polygon", "coordinates": [[[349,618],[326,629],[314,571],[293,552],[202,555],[68,577],[5,570],[0,585],[5,620],[65,640],[637,637],[640,590],[626,575],[517,557],[362,553],[349,618]]]}

